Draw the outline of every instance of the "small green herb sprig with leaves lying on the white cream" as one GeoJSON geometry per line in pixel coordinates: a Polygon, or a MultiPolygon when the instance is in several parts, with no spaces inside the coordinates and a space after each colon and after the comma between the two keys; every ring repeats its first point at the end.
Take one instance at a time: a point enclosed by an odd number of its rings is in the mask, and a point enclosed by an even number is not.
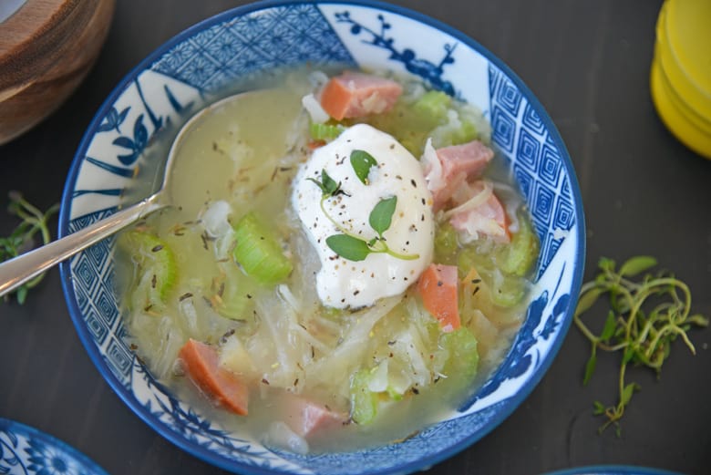
{"type": "MultiPolygon", "coordinates": [[[[354,153],[351,154],[351,163],[354,164],[354,170],[358,174],[358,178],[363,181],[364,184],[367,183],[367,175],[370,167],[376,165],[376,160],[373,159],[367,152],[363,150],[354,150],[354,152],[362,151],[366,154],[367,158],[362,154],[356,154],[356,160],[353,159],[354,153]],[[373,164],[368,164],[369,160],[373,160],[373,164]],[[356,169],[356,164],[360,168],[360,171],[356,169]],[[359,174],[360,173],[360,174],[359,174]],[[365,175],[363,175],[365,173],[365,175]],[[365,178],[361,178],[363,175],[365,178]]],[[[390,249],[386,243],[386,238],[383,233],[390,229],[392,224],[393,214],[395,213],[395,208],[397,206],[397,196],[391,196],[389,198],[382,199],[377,202],[373,211],[370,212],[368,217],[368,222],[370,227],[377,232],[377,236],[369,241],[362,239],[351,232],[348,232],[344,226],[336,222],[333,216],[325,209],[325,201],[329,198],[335,197],[338,194],[348,195],[345,191],[341,190],[341,183],[335,182],[326,170],[321,170],[321,181],[309,178],[309,181],[314,181],[314,183],[321,189],[321,211],[328,218],[328,221],[332,222],[335,228],[341,232],[340,234],[334,234],[328,236],[325,240],[326,245],[331,248],[331,250],[338,254],[339,256],[349,260],[349,261],[363,261],[371,253],[386,253],[397,259],[403,259],[405,261],[411,261],[419,258],[419,254],[402,254],[396,253],[390,249]]]]}

